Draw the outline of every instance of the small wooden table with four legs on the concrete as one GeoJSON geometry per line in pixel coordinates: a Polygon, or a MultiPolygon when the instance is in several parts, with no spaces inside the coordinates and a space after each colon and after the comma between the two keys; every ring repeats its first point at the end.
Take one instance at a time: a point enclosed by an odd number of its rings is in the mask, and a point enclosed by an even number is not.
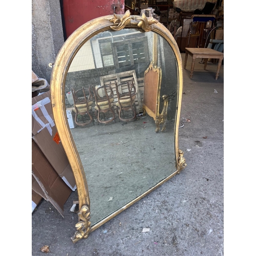
{"type": "Polygon", "coordinates": [[[220,69],[221,69],[221,63],[224,58],[224,53],[215,51],[210,48],[185,48],[185,50],[186,50],[186,55],[185,55],[184,69],[186,69],[187,55],[189,54],[190,56],[192,56],[190,78],[192,78],[193,76],[196,58],[204,59],[204,70],[206,70],[208,58],[211,58],[211,59],[219,59],[215,80],[218,79],[220,69]]]}

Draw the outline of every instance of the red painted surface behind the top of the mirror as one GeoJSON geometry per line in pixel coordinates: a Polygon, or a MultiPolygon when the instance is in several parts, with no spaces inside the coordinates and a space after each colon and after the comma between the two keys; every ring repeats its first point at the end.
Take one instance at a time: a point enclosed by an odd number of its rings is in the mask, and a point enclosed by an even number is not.
{"type": "Polygon", "coordinates": [[[63,0],[66,34],[69,37],[89,20],[114,13],[124,14],[124,0],[63,0]]]}

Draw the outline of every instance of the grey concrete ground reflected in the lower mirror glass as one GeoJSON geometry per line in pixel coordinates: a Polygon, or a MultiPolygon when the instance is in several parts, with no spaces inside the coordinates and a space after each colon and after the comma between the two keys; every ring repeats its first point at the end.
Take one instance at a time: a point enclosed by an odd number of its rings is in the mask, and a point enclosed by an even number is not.
{"type": "Polygon", "coordinates": [[[71,129],[87,177],[92,225],[175,172],[174,121],[165,132],[155,129],[148,115],[71,129]]]}

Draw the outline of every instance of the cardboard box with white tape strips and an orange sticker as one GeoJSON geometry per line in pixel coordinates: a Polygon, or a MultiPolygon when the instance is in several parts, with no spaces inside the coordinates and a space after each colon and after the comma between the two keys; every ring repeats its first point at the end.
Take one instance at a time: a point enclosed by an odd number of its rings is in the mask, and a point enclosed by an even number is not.
{"type": "Polygon", "coordinates": [[[54,123],[50,91],[32,98],[32,138],[56,173],[75,191],[74,174],[54,123]]]}

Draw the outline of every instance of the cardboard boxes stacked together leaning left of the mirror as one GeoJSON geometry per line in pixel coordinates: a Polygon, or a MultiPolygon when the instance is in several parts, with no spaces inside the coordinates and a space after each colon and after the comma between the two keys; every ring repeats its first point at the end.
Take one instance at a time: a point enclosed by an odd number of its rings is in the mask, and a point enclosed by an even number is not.
{"type": "Polygon", "coordinates": [[[63,205],[72,190],[76,190],[75,178],[59,139],[48,91],[32,98],[32,212],[44,198],[64,217],[63,205]]]}

